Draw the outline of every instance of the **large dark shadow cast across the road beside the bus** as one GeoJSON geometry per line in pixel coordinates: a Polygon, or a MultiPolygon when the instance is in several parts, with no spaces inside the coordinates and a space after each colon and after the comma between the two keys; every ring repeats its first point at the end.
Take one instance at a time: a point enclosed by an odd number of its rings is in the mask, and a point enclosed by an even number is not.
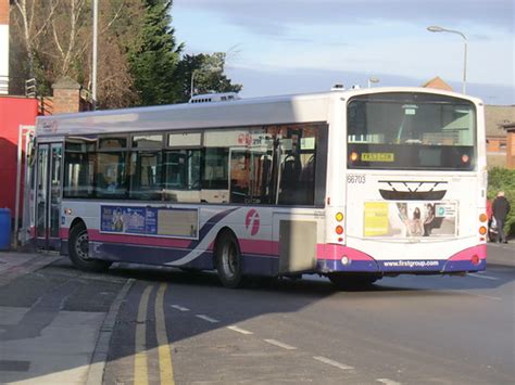
{"type": "MultiPolygon", "coordinates": [[[[302,280],[253,278],[244,287],[229,290],[222,286],[215,272],[185,272],[174,268],[115,264],[106,273],[84,273],[76,270],[67,259],[61,259],[0,288],[0,306],[30,308],[20,325],[11,330],[8,328],[0,334],[0,341],[37,336],[62,310],[106,312],[123,283],[127,279],[134,279],[136,282],[117,315],[108,357],[108,368],[109,362],[126,361],[126,369],[130,371],[129,365],[135,355],[138,305],[148,286],[152,286],[145,321],[148,330],[155,330],[158,305],[153,304],[156,304],[159,287],[165,284],[163,310],[168,338],[172,344],[180,344],[203,333],[260,320],[263,316],[294,315],[301,309],[316,307],[323,300],[330,300],[336,306],[344,304],[342,307],[346,310],[341,316],[349,317],[353,309],[363,307],[368,301],[393,299],[395,303],[405,300],[407,304],[417,298],[455,298],[466,296],[470,290],[494,290],[515,278],[515,268],[502,260],[489,264],[489,269],[495,272],[495,279],[401,275],[386,278],[367,287],[339,291],[327,279],[318,277],[306,275],[302,280]],[[25,298],[22,299],[24,295],[25,298]],[[51,299],[52,295],[58,295],[59,298],[51,299]],[[186,307],[189,312],[180,312],[173,306],[186,307]],[[199,320],[199,315],[208,315],[216,322],[199,320]],[[22,326],[27,325],[29,335],[22,330],[22,326]]],[[[486,274],[488,273],[487,270],[486,274]]],[[[158,346],[155,338],[149,338],[147,351],[153,351],[158,346]]],[[[61,371],[68,369],[73,368],[60,367],[61,371]]],[[[51,372],[41,371],[37,374],[43,376],[51,372]]],[[[112,375],[108,370],[106,382],[115,380],[112,375]]],[[[28,375],[20,371],[15,375],[16,381],[30,378],[34,378],[34,372],[28,375]]]]}

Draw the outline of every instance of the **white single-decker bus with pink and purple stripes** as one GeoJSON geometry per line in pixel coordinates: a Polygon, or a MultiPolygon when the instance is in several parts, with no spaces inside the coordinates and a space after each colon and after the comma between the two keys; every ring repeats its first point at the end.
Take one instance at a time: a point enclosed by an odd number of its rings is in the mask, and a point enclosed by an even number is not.
{"type": "Polygon", "coordinates": [[[37,119],[27,231],[112,262],[338,286],[486,268],[483,104],[335,89],[37,119]]]}

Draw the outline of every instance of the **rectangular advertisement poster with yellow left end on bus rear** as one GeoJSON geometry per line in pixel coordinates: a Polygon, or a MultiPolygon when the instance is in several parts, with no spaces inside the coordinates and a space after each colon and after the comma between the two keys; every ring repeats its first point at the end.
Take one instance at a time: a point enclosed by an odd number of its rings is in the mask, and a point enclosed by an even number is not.
{"type": "Polygon", "coordinates": [[[364,235],[443,238],[456,235],[456,202],[365,202],[364,235]]]}

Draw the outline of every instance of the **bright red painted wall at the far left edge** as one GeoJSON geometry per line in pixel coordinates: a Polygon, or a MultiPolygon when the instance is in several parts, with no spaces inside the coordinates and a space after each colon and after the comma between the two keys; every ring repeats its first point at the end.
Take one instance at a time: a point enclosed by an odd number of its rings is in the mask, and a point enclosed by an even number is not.
{"type": "Polygon", "coordinates": [[[18,127],[33,126],[37,114],[35,99],[0,97],[0,207],[9,207],[13,217],[18,127]]]}

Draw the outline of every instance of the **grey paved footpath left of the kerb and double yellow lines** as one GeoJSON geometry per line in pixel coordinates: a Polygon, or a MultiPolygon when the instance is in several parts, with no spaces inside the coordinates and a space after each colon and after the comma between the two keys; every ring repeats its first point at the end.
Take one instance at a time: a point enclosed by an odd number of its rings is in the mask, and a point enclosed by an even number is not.
{"type": "Polygon", "coordinates": [[[75,269],[41,270],[65,260],[56,254],[0,253],[1,383],[102,383],[117,294],[128,291],[127,280],[91,285],[75,269]],[[96,295],[108,299],[95,300],[96,295]],[[88,297],[93,299],[85,304],[88,297]]]}

